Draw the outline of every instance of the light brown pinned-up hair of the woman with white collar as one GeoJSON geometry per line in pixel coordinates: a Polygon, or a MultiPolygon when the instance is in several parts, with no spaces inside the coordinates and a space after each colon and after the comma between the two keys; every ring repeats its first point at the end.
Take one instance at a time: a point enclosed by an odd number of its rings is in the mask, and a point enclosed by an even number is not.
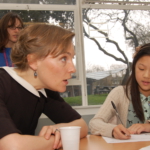
{"type": "Polygon", "coordinates": [[[34,59],[53,57],[66,52],[74,33],[55,25],[33,24],[20,32],[18,41],[12,48],[12,63],[20,70],[29,67],[27,56],[34,54],[34,59]]]}

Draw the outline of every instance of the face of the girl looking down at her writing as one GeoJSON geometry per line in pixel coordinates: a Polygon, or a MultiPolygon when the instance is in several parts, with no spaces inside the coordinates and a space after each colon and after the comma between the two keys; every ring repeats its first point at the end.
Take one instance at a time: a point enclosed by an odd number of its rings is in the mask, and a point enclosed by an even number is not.
{"type": "Polygon", "coordinates": [[[150,95],[150,56],[141,57],[135,65],[135,76],[139,90],[145,96],[150,95]]]}

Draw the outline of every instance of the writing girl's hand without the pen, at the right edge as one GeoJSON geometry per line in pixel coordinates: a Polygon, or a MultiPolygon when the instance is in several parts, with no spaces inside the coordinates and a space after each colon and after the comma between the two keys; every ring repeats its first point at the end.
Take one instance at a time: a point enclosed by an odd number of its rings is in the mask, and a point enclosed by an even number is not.
{"type": "Polygon", "coordinates": [[[133,124],[131,127],[128,128],[130,134],[140,134],[141,132],[150,132],[150,124],[133,124]]]}

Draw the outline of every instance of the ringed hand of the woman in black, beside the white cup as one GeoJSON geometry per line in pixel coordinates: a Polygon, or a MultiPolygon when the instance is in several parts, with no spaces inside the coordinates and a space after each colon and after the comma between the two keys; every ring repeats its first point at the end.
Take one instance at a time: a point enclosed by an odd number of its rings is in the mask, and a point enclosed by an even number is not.
{"type": "Polygon", "coordinates": [[[58,149],[62,147],[60,131],[55,126],[44,126],[39,133],[39,136],[42,136],[47,140],[50,139],[51,135],[55,136],[53,148],[58,149]]]}

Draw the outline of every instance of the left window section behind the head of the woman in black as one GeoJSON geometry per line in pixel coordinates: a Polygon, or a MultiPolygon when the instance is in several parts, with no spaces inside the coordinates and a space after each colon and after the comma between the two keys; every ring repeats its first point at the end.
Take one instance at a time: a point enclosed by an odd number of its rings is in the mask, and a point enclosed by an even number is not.
{"type": "MultiPolygon", "coordinates": [[[[5,4],[5,6],[7,6],[5,4]]],[[[12,7],[16,7],[17,5],[12,5],[12,7]]],[[[20,6],[26,6],[21,4],[20,6]]],[[[55,7],[53,8],[52,5],[49,5],[51,7],[45,7],[42,5],[28,5],[29,10],[0,10],[0,17],[2,17],[5,13],[9,11],[16,12],[20,15],[22,18],[24,25],[30,25],[35,23],[46,23],[46,24],[54,24],[57,26],[61,26],[65,29],[71,30],[73,32],[78,33],[78,28],[76,27],[77,23],[75,23],[75,7],[74,6],[68,6],[68,9],[66,7],[60,8],[60,10],[57,8],[55,10],[55,7]],[[33,10],[32,10],[32,9],[33,10]]],[[[10,5],[8,6],[10,7],[10,5]]],[[[22,8],[22,7],[21,7],[22,8]]],[[[81,79],[80,79],[80,73],[79,73],[79,63],[77,62],[78,54],[80,52],[76,51],[80,50],[79,46],[79,40],[77,39],[77,34],[73,40],[74,46],[75,46],[75,53],[76,56],[74,58],[74,64],[76,66],[76,73],[72,75],[72,79],[69,81],[69,85],[67,86],[67,90],[64,93],[60,93],[60,95],[72,106],[81,106],[82,105],[82,89],[81,89],[81,79]],[[77,99],[75,99],[77,98],[77,99]],[[75,100],[74,100],[75,99],[75,100]],[[73,101],[72,101],[73,100],[73,101]]]]}

